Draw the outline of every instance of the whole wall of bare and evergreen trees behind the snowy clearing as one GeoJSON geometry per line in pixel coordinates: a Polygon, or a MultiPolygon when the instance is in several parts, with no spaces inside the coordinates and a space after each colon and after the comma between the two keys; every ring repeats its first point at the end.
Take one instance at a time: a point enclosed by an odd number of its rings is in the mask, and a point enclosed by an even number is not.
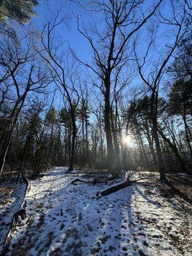
{"type": "Polygon", "coordinates": [[[191,170],[191,14],[188,1],[164,4],[169,14],[161,0],[141,15],[143,1],[93,2],[102,26],[77,17],[89,63],[56,37],[62,8],[42,30],[1,28],[0,173],[191,170]]]}

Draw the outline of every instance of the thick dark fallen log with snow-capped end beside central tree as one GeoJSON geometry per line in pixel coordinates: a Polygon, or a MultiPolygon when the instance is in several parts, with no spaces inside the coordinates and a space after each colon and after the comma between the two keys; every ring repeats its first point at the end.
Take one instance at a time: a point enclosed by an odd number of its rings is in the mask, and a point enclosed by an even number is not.
{"type": "Polygon", "coordinates": [[[128,173],[126,173],[125,179],[123,181],[113,184],[113,185],[109,186],[108,188],[100,191],[97,194],[97,196],[107,196],[107,195],[110,195],[111,193],[114,193],[120,189],[126,188],[127,186],[131,186],[131,185],[132,185],[132,181],[130,180],[128,173]]]}

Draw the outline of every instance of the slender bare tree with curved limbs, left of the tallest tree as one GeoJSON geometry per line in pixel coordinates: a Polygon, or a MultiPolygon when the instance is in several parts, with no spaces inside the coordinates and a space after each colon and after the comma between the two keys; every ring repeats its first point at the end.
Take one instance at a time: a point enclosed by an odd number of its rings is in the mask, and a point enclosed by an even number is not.
{"type": "Polygon", "coordinates": [[[72,120],[72,147],[70,150],[70,163],[68,168],[68,171],[70,172],[74,169],[74,151],[77,133],[76,109],[79,103],[79,93],[76,89],[76,63],[73,58],[70,63],[70,58],[68,58],[67,54],[65,54],[67,63],[63,63],[63,58],[60,58],[60,54],[57,51],[60,49],[60,46],[56,45],[54,40],[56,27],[60,26],[65,20],[65,18],[58,20],[59,15],[60,12],[56,14],[52,22],[49,21],[45,24],[41,34],[41,45],[40,47],[35,45],[35,50],[41,58],[49,64],[49,67],[52,69],[54,82],[58,84],[60,92],[63,94],[63,97],[67,99],[70,106],[70,117],[72,120]]]}

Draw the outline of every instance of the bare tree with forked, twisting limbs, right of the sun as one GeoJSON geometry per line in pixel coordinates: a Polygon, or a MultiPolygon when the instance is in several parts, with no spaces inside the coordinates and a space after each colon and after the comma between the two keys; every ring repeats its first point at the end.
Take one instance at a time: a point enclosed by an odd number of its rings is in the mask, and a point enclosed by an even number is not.
{"type": "MultiPolygon", "coordinates": [[[[157,152],[157,162],[159,166],[160,179],[164,180],[164,164],[163,164],[163,154],[161,151],[161,145],[158,137],[158,124],[157,124],[157,106],[158,106],[158,95],[159,95],[159,84],[163,76],[164,68],[166,67],[168,61],[172,57],[173,52],[175,51],[177,45],[180,40],[182,40],[185,33],[188,32],[189,25],[191,20],[186,23],[186,18],[188,13],[186,12],[186,4],[183,3],[180,6],[180,12],[176,12],[176,7],[174,6],[173,1],[170,2],[170,8],[172,10],[172,17],[169,19],[168,17],[164,17],[163,13],[159,11],[159,22],[170,26],[173,31],[175,31],[175,38],[172,45],[166,45],[168,51],[166,52],[166,56],[164,58],[159,56],[159,60],[157,61],[156,68],[152,68],[152,70],[148,71],[148,75],[146,75],[147,65],[149,65],[148,61],[151,59],[147,59],[148,55],[156,41],[157,35],[154,31],[150,35],[150,42],[147,47],[147,51],[145,52],[142,60],[141,57],[138,57],[138,52],[136,51],[136,40],[134,40],[134,54],[136,58],[136,63],[138,65],[138,71],[143,82],[150,88],[150,120],[152,122],[152,134],[154,137],[154,141],[156,143],[156,152],[157,152]],[[147,61],[148,60],[148,61],[147,61]]],[[[157,25],[159,26],[159,25],[157,25]]],[[[156,56],[156,58],[158,58],[156,56]]],[[[148,69],[147,69],[148,70],[148,69]]]]}

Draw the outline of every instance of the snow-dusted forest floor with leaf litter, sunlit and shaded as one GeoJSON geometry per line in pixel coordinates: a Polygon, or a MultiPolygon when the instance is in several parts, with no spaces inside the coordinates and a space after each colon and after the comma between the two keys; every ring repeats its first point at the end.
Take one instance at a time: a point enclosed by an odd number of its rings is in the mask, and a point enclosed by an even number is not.
{"type": "MultiPolygon", "coordinates": [[[[168,175],[170,185],[143,173],[148,179],[98,199],[102,188],[70,184],[76,175],[66,170],[30,181],[26,218],[13,232],[8,256],[192,255],[191,177],[168,175]]],[[[1,241],[3,234],[0,227],[1,241]]]]}

